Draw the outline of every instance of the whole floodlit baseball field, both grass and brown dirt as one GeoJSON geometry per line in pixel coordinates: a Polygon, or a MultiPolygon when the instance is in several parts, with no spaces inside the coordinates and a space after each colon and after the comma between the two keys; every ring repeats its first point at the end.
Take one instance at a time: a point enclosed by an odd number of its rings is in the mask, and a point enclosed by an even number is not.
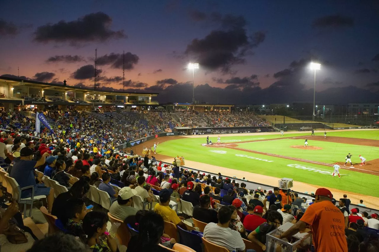
{"type": "MultiPolygon", "coordinates": [[[[185,157],[189,168],[221,173],[239,179],[276,186],[281,178],[292,178],[294,190],[311,193],[318,187],[330,188],[342,196],[363,199],[366,205],[379,208],[379,192],[374,190],[379,175],[379,131],[350,129],[311,132],[246,133],[168,136],[150,140],[143,145],[157,146],[157,160],[172,163],[173,157],[185,157]],[[307,138],[309,145],[304,146],[307,138]],[[345,165],[351,154],[352,165],[345,165]],[[361,165],[360,157],[365,157],[361,165]],[[333,177],[333,166],[340,165],[340,178],[333,177]]],[[[136,147],[137,152],[140,147],[136,147]]],[[[339,196],[336,196],[339,197],[339,196]]],[[[341,197],[340,197],[341,198],[341,197]]]]}

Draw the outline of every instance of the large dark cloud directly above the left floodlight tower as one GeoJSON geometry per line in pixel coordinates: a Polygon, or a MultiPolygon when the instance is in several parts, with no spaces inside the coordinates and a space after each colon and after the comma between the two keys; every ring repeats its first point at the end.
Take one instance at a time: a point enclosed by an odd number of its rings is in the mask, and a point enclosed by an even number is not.
{"type": "Polygon", "coordinates": [[[242,16],[222,17],[218,14],[211,19],[219,22],[221,29],[211,31],[203,39],[193,39],[185,50],[186,56],[206,70],[229,73],[232,65],[244,63],[244,56],[265,40],[263,31],[251,36],[247,34],[246,21],[242,16]]]}

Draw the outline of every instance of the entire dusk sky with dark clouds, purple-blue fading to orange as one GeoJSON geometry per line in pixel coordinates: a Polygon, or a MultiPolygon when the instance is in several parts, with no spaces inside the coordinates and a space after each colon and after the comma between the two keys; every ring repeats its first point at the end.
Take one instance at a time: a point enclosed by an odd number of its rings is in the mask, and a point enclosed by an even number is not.
{"type": "MultiPolygon", "coordinates": [[[[0,75],[8,77],[17,77],[19,67],[22,78],[93,87],[97,48],[100,87],[122,89],[125,51],[125,89],[159,92],[165,101],[192,100],[191,61],[200,64],[196,100],[214,102],[217,92],[223,100],[243,94],[244,103],[254,104],[289,90],[296,94],[278,102],[307,100],[310,61],[322,64],[319,97],[346,89],[379,97],[377,1],[31,0],[1,6],[0,75]]],[[[346,102],[350,98],[358,99],[346,102]]]]}

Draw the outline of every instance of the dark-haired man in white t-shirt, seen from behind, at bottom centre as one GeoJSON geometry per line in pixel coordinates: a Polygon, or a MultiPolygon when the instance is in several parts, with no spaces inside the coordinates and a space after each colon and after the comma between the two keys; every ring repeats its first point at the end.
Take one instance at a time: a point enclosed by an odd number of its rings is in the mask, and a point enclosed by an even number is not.
{"type": "MultiPolygon", "coordinates": [[[[233,211],[228,206],[218,210],[218,223],[210,222],[204,228],[204,238],[230,251],[245,252],[245,243],[238,231],[229,228],[233,211]]],[[[249,250],[247,250],[249,251],[249,250]]]]}

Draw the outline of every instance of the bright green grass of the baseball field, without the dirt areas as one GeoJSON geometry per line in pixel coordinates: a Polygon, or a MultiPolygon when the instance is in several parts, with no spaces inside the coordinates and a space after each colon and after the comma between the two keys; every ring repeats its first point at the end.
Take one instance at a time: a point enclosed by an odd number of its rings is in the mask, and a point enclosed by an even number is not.
{"type": "MultiPolygon", "coordinates": [[[[321,132],[316,132],[316,135],[322,134],[323,133],[321,132]]],[[[377,139],[378,134],[379,131],[328,132],[328,135],[334,135],[339,137],[356,137],[368,139],[377,139]]],[[[301,135],[309,134],[299,133],[287,134],[285,136],[295,137],[301,135]]],[[[278,135],[250,135],[240,137],[222,137],[221,135],[221,141],[254,141],[254,139],[252,138],[272,139],[277,137],[278,135]]],[[[185,157],[186,160],[192,160],[236,170],[249,171],[251,173],[259,173],[273,177],[290,177],[296,181],[304,182],[307,184],[332,187],[339,190],[346,190],[355,193],[379,197],[379,191],[372,190],[372,188],[377,187],[378,176],[360,173],[352,169],[340,170],[341,179],[338,179],[338,177],[332,177],[330,175],[333,172],[333,168],[330,166],[316,165],[312,163],[299,162],[279,157],[271,157],[263,154],[239,151],[236,149],[204,147],[201,144],[205,143],[205,138],[206,135],[204,138],[183,138],[169,140],[160,143],[159,147],[157,148],[157,151],[159,154],[163,154],[166,156],[174,157],[179,155],[185,157]]],[[[210,137],[210,139],[215,140],[214,142],[216,142],[216,138],[217,136],[210,137]]],[[[238,142],[240,141],[230,142],[235,142],[238,144],[238,142]]],[[[353,162],[359,161],[357,157],[359,153],[362,153],[362,155],[367,160],[375,159],[379,154],[379,148],[376,147],[357,146],[313,140],[310,140],[309,144],[314,145],[313,142],[317,142],[316,146],[322,147],[323,149],[320,151],[315,150],[307,152],[307,150],[288,147],[291,145],[304,144],[304,140],[301,139],[282,139],[264,142],[239,143],[238,145],[241,148],[256,149],[258,151],[328,163],[335,162],[336,160],[343,162],[344,157],[348,152],[355,154],[352,159],[353,162]]],[[[233,174],[228,175],[230,176],[233,174]]],[[[254,178],[252,180],[254,181],[254,178]]],[[[273,185],[275,185],[276,183],[276,181],[273,181],[273,185]]]]}

